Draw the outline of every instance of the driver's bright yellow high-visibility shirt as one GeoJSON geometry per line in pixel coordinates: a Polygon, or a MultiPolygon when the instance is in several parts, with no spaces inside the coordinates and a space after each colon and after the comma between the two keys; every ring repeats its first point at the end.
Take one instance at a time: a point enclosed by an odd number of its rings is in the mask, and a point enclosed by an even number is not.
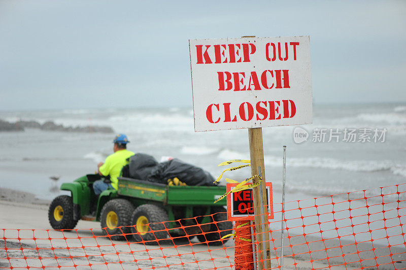
{"type": "Polygon", "coordinates": [[[105,163],[99,167],[98,170],[101,174],[104,176],[110,175],[111,185],[115,189],[118,189],[117,177],[120,176],[121,169],[128,164],[126,159],[133,155],[134,153],[127,149],[118,150],[114,154],[108,156],[105,163]]]}

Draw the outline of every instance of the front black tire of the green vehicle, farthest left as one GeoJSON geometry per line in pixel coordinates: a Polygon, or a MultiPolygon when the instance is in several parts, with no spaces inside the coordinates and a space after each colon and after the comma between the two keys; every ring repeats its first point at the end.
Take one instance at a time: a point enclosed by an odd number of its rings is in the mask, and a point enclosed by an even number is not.
{"type": "Polygon", "coordinates": [[[73,219],[73,202],[71,196],[60,195],[52,200],[48,210],[48,220],[51,227],[55,230],[73,229],[75,228],[78,220],[73,219]],[[55,208],[60,206],[62,208],[62,219],[56,220],[54,216],[55,208]]]}

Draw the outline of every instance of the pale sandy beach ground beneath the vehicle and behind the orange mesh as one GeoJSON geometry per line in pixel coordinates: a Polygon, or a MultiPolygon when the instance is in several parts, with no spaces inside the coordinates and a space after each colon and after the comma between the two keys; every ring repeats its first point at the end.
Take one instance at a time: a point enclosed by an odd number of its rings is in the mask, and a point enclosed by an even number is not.
{"type": "MultiPolygon", "coordinates": [[[[113,263],[109,264],[109,269],[121,269],[122,267],[125,269],[139,269],[152,266],[183,269],[183,266],[180,264],[182,262],[186,263],[185,268],[187,269],[210,269],[213,267],[224,267],[226,269],[231,268],[230,265],[234,263],[233,241],[228,241],[224,247],[208,247],[205,244],[198,244],[196,239],[191,240],[191,244],[181,241],[175,242],[176,246],[165,244],[160,247],[120,241],[112,242],[110,239],[101,236],[99,223],[91,221],[79,221],[76,230],[62,233],[52,230],[49,225],[47,216],[49,201],[37,199],[33,194],[27,192],[10,189],[1,189],[0,197],[2,198],[0,200],[0,207],[3,212],[3,215],[0,215],[0,224],[3,230],[0,230],[0,232],[4,234],[0,235],[0,258],[2,258],[0,268],[2,269],[10,267],[9,261],[3,259],[6,258],[5,251],[3,250],[5,247],[3,237],[6,238],[9,257],[21,258],[22,254],[24,254],[27,257],[37,258],[27,260],[28,264],[31,263],[29,265],[21,260],[12,259],[13,267],[41,265],[41,263],[45,266],[57,266],[58,264],[64,266],[73,265],[72,259],[69,258],[53,259],[55,256],[66,257],[66,248],[68,247],[71,248],[68,249],[71,256],[75,257],[75,264],[95,264],[92,265],[94,269],[106,269],[105,262],[113,263]],[[52,241],[44,240],[41,242],[37,240],[34,243],[32,240],[21,240],[19,243],[16,239],[16,229],[21,229],[19,231],[20,238],[29,239],[30,235],[32,235],[31,229],[35,229],[36,238],[49,239],[51,237],[52,241]],[[51,230],[48,232],[47,229],[51,230]],[[64,237],[70,241],[64,240],[64,237]],[[97,245],[101,246],[101,248],[96,247],[97,245]],[[37,246],[41,248],[40,253],[35,250],[37,246]],[[55,250],[51,251],[51,247],[55,250]],[[103,256],[101,253],[107,255],[103,256]],[[85,255],[89,256],[86,258],[85,255]],[[39,256],[43,257],[41,263],[39,262],[39,256]],[[167,258],[163,259],[163,256],[167,256],[167,258]],[[155,259],[150,260],[150,258],[155,259]],[[214,260],[211,258],[214,258],[214,260]],[[134,259],[137,259],[137,262],[134,262],[134,259]],[[122,266],[117,264],[119,261],[122,261],[122,266]],[[167,265],[170,264],[175,265],[168,267],[167,265]]],[[[286,239],[284,253],[286,256],[284,267],[286,269],[323,269],[327,268],[328,265],[331,267],[331,265],[340,265],[351,261],[354,263],[348,263],[346,268],[357,269],[361,267],[357,261],[363,260],[363,265],[365,265],[369,259],[370,264],[375,264],[374,257],[378,257],[377,261],[379,264],[384,264],[380,265],[379,269],[393,269],[392,264],[385,265],[385,263],[391,263],[392,260],[396,261],[395,266],[397,269],[406,268],[406,254],[404,249],[398,247],[391,247],[389,249],[388,247],[374,245],[375,249],[371,250],[370,243],[354,245],[350,241],[346,242],[342,240],[341,245],[343,247],[340,248],[340,243],[337,239],[322,240],[310,235],[307,235],[306,239],[302,235],[290,236],[290,245],[293,246],[293,249],[289,247],[289,241],[286,239]],[[310,244],[304,244],[306,242],[310,244]],[[326,248],[328,249],[327,254],[326,248]],[[357,250],[362,252],[357,254],[357,250]],[[293,257],[292,251],[298,255],[293,257]],[[390,257],[390,254],[395,255],[390,257]],[[325,259],[326,256],[329,257],[328,261],[325,259]],[[310,262],[311,260],[313,261],[310,262]],[[294,263],[296,263],[296,267],[294,267],[294,263]]],[[[270,243],[272,254],[274,254],[272,257],[275,257],[275,250],[278,252],[277,255],[280,256],[280,232],[273,232],[272,237],[274,239],[270,243]]],[[[278,262],[273,259],[272,267],[277,266],[278,262]]],[[[78,266],[78,269],[82,268],[86,267],[78,266]]],[[[335,268],[342,269],[345,267],[341,265],[335,268]]],[[[366,269],[376,268],[366,267],[366,269]]]]}

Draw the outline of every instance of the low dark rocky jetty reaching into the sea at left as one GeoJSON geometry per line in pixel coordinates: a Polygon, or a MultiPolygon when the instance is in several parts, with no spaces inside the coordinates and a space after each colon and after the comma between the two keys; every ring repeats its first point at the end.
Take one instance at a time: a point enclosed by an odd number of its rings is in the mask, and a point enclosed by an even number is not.
{"type": "Polygon", "coordinates": [[[14,123],[0,119],[0,131],[24,131],[24,128],[39,128],[42,130],[50,131],[63,131],[63,132],[101,132],[113,133],[114,130],[110,126],[63,126],[57,125],[53,121],[40,124],[37,121],[17,121],[14,123]]]}

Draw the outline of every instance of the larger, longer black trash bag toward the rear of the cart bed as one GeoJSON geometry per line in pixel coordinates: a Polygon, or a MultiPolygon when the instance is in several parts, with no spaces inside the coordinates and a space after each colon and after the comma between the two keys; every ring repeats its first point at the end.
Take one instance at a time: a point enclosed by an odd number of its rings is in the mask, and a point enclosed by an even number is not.
{"type": "Polygon", "coordinates": [[[168,179],[175,177],[188,186],[214,186],[214,178],[209,172],[177,158],[155,166],[148,176],[148,181],[167,184],[168,179]]]}

